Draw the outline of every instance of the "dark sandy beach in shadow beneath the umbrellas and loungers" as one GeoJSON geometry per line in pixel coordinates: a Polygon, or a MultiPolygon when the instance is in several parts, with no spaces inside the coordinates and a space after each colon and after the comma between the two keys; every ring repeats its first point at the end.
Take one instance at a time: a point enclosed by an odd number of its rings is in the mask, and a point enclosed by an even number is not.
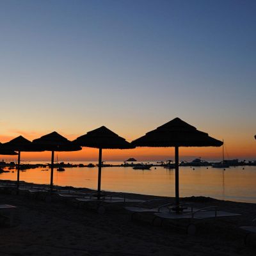
{"type": "MultiPolygon", "coordinates": [[[[156,196],[126,194],[149,200],[156,196]]],[[[1,193],[1,204],[17,206],[13,227],[1,227],[0,255],[255,255],[255,246],[244,245],[256,204],[206,197],[183,198],[195,207],[217,205],[241,216],[200,223],[195,235],[167,223],[132,220],[122,205],[98,214],[70,202],[1,193]]],[[[160,197],[158,197],[160,198],[160,197]]],[[[162,198],[171,202],[173,198],[162,198]]],[[[152,205],[154,206],[154,205],[152,205]]]]}

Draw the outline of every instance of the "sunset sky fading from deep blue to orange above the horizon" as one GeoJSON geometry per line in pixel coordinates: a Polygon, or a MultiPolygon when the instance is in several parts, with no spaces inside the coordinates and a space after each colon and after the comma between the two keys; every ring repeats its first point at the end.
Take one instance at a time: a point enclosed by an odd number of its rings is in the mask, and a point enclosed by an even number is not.
{"type": "MultiPolygon", "coordinates": [[[[250,0],[1,0],[0,141],[52,131],[74,140],[102,125],[132,141],[179,117],[224,140],[230,159],[256,159],[255,12],[250,0]]],[[[97,150],[60,156],[89,161],[97,150]]],[[[221,148],[180,149],[199,156],[218,160],[221,148]]]]}

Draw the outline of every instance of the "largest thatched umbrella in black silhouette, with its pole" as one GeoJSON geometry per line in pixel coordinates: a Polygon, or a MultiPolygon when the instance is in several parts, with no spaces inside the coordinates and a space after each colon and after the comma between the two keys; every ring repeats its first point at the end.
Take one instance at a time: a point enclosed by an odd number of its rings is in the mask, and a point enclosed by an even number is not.
{"type": "MultiPolygon", "coordinates": [[[[157,127],[156,130],[147,132],[141,138],[132,141],[136,147],[175,147],[175,200],[179,205],[179,147],[220,147],[222,141],[208,136],[207,133],[198,131],[192,125],[180,118],[157,127]]],[[[179,212],[179,207],[177,212],[179,212]]]]}

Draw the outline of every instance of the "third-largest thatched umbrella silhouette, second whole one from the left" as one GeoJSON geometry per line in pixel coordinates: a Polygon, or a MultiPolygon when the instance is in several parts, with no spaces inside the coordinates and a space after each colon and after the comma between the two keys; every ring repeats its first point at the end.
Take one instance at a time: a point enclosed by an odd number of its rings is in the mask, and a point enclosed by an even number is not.
{"type": "Polygon", "coordinates": [[[50,188],[53,188],[53,166],[54,166],[54,152],[55,151],[78,151],[81,150],[81,147],[74,145],[71,141],[67,140],[67,138],[58,134],[58,132],[51,132],[33,140],[33,144],[40,147],[42,150],[51,151],[51,182],[50,188]]]}

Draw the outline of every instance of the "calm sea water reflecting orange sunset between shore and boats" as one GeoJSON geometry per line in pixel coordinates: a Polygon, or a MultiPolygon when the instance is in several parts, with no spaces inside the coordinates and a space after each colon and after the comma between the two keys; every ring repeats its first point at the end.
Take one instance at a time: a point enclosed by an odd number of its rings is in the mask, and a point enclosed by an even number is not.
{"type": "MultiPolygon", "coordinates": [[[[74,162],[73,162],[74,163],[74,162]]],[[[79,162],[88,164],[88,162],[79,162]]],[[[96,163],[96,162],[95,162],[96,163]]],[[[108,162],[118,164],[117,162],[108,162]]],[[[20,172],[20,180],[49,184],[50,170],[36,168],[20,172]]],[[[77,188],[97,188],[98,169],[65,168],[54,170],[54,184],[77,188]]],[[[0,179],[16,180],[17,172],[1,173],[0,179]]],[[[131,167],[102,168],[101,188],[145,195],[174,196],[175,170],[152,167],[133,170],[131,167]]],[[[180,167],[180,196],[211,196],[221,200],[256,203],[256,166],[237,166],[226,170],[206,167],[180,167]],[[244,168],[244,170],[243,170],[244,168]]]]}

